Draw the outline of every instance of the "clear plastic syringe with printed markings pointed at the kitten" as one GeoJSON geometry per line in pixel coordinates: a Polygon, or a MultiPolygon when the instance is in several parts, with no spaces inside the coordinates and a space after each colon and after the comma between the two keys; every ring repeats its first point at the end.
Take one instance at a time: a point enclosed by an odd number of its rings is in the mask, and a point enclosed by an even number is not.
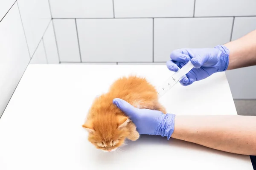
{"type": "Polygon", "coordinates": [[[174,85],[176,85],[178,82],[180,82],[181,79],[185,77],[185,75],[194,68],[194,65],[189,61],[184,65],[182,68],[180,68],[177,72],[172,74],[169,79],[167,79],[161,86],[157,88],[158,96],[162,97],[164,94],[166,94],[167,91],[169,91],[174,85]]]}

